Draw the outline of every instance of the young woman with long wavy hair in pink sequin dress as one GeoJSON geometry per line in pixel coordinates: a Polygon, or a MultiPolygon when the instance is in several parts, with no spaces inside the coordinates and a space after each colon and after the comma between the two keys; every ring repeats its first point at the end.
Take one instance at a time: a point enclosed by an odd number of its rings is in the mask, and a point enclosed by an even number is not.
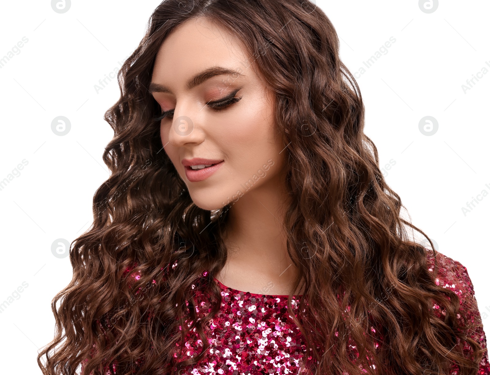
{"type": "Polygon", "coordinates": [[[490,373],[466,268],[409,238],[313,3],[163,1],[118,78],[44,374],[490,373]]]}

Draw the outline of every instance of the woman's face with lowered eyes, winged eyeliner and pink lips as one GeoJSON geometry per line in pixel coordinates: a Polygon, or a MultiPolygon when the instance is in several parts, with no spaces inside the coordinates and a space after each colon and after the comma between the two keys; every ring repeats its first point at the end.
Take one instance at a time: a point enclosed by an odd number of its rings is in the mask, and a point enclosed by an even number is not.
{"type": "Polygon", "coordinates": [[[277,188],[285,145],[273,95],[254,64],[236,38],[205,18],[180,25],[156,56],[149,89],[162,114],[169,111],[162,144],[204,210],[277,188]]]}

